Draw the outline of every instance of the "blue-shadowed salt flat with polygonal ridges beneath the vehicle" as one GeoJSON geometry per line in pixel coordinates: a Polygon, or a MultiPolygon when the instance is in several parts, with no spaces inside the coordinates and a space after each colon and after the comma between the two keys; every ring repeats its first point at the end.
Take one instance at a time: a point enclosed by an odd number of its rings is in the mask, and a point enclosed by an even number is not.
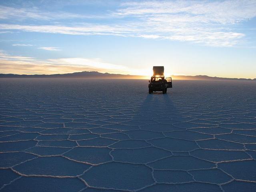
{"type": "Polygon", "coordinates": [[[0,79],[0,191],[256,191],[256,82],[0,79]]]}

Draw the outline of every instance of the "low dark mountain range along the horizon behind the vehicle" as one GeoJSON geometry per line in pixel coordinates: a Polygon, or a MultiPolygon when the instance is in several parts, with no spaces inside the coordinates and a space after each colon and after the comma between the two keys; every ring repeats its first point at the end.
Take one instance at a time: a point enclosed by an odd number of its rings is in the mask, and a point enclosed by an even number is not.
{"type": "MultiPolygon", "coordinates": [[[[0,74],[0,78],[102,78],[102,79],[146,79],[146,76],[139,75],[122,75],[122,74],[110,74],[100,73],[96,71],[83,71],[67,74],[52,74],[52,75],[18,75],[18,74],[0,74]]],[[[179,80],[254,80],[245,78],[223,78],[223,77],[209,77],[206,75],[196,76],[183,76],[172,75],[173,79],[179,80]]]]}

